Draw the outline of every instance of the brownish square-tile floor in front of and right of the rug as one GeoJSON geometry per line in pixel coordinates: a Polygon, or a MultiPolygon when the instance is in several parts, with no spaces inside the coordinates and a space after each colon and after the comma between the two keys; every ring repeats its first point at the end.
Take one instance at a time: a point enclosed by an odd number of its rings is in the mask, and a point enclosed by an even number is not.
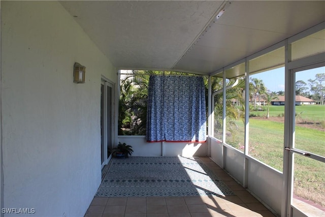
{"type": "Polygon", "coordinates": [[[94,197],[85,217],[275,216],[209,158],[201,159],[235,196],[94,197]]]}

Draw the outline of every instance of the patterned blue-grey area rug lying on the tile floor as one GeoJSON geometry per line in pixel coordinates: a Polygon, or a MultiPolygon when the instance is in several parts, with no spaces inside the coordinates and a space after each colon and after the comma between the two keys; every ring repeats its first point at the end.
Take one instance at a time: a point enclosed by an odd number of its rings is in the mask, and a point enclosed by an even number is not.
{"type": "Polygon", "coordinates": [[[199,159],[129,157],[113,159],[96,197],[234,195],[199,159]]]}

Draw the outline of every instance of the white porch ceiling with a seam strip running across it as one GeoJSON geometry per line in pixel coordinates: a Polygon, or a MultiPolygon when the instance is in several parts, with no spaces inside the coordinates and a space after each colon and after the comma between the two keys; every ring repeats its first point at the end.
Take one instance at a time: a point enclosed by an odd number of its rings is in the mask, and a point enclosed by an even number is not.
{"type": "Polygon", "coordinates": [[[116,68],[202,75],[325,20],[325,1],[60,3],[116,68]]]}

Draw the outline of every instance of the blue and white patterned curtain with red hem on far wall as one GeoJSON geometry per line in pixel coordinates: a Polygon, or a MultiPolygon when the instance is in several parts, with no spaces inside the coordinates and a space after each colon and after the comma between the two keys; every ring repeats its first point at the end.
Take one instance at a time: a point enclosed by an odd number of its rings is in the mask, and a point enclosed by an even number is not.
{"type": "Polygon", "coordinates": [[[203,78],[150,76],[147,141],[205,140],[206,106],[203,78]]]}

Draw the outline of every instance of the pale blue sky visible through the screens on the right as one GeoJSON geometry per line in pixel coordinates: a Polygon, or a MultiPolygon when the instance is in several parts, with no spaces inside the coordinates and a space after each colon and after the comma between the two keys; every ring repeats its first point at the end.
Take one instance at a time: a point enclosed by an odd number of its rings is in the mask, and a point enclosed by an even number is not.
{"type": "MultiPolygon", "coordinates": [[[[325,73],[325,67],[301,71],[296,73],[296,81],[303,80],[308,85],[308,79],[315,79],[315,75],[319,73],[325,73]]],[[[284,67],[270,70],[263,73],[258,73],[249,76],[250,78],[258,78],[263,80],[264,85],[268,90],[272,91],[284,91],[284,67]]],[[[324,83],[323,83],[324,85],[324,83]]]]}

